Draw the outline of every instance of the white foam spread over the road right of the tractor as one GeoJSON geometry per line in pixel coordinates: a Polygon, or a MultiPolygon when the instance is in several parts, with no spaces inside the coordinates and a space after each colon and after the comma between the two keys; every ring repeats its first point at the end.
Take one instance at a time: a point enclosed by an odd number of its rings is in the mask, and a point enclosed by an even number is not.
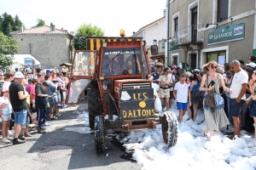
{"type": "MultiPolygon", "coordinates": [[[[178,115],[177,110],[172,110],[178,115]]],[[[183,120],[188,118],[187,115],[183,120]]],[[[203,120],[199,114],[197,122],[203,120]]],[[[127,150],[134,150],[133,158],[143,169],[159,167],[177,169],[255,169],[256,145],[253,135],[241,135],[230,140],[223,133],[215,133],[211,139],[203,137],[205,123],[187,121],[178,125],[177,144],[166,148],[162,139],[161,125],[156,129],[133,131],[122,142],[127,150]]]]}

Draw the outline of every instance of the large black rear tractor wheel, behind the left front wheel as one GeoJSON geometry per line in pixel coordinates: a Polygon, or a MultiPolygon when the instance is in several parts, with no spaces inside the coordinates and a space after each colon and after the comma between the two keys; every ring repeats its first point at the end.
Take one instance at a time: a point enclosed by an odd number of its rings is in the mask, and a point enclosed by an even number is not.
{"type": "Polygon", "coordinates": [[[102,103],[99,101],[99,99],[101,99],[99,88],[90,87],[90,89],[87,90],[87,96],[88,96],[89,126],[91,129],[93,129],[95,117],[102,114],[102,103]]]}

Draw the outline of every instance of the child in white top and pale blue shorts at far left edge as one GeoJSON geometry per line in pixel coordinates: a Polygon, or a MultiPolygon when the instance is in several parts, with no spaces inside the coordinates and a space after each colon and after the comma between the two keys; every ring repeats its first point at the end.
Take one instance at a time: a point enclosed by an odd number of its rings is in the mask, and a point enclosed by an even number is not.
{"type": "Polygon", "coordinates": [[[2,118],[3,143],[10,143],[13,138],[9,137],[9,121],[11,120],[12,107],[9,102],[9,89],[3,88],[3,97],[0,97],[0,117],[2,118]]]}

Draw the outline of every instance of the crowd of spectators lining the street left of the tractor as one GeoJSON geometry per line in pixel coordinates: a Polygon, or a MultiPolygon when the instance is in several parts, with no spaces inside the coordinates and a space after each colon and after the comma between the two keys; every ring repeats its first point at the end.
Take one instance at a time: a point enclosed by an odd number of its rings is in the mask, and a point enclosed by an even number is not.
{"type": "Polygon", "coordinates": [[[45,122],[61,116],[66,108],[69,72],[41,68],[24,71],[0,71],[0,117],[3,143],[22,144],[31,137],[29,124],[36,123],[38,133],[45,133],[45,122]],[[15,133],[11,133],[14,128],[15,133]]]}

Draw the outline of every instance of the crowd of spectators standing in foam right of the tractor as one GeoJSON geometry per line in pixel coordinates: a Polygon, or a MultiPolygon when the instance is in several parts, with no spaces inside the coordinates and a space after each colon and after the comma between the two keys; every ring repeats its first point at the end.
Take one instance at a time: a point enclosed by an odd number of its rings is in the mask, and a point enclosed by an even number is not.
{"type": "MultiPolygon", "coordinates": [[[[256,57],[233,60],[224,65],[210,61],[202,68],[193,69],[188,64],[184,68],[172,65],[164,67],[157,63],[152,67],[154,83],[158,84],[162,111],[171,111],[172,100],[179,111],[178,121],[188,111],[189,119],[195,121],[199,110],[204,112],[206,130],[204,137],[210,138],[216,131],[234,127],[234,132],[226,133],[230,139],[240,137],[241,129],[253,133],[256,128],[256,57]],[[204,99],[212,92],[221,96],[223,103],[217,109],[207,107],[204,99]]],[[[186,120],[186,121],[189,121],[186,120]]],[[[198,124],[201,124],[198,122],[198,124]]],[[[256,132],[255,132],[256,141],[256,132]]]]}

